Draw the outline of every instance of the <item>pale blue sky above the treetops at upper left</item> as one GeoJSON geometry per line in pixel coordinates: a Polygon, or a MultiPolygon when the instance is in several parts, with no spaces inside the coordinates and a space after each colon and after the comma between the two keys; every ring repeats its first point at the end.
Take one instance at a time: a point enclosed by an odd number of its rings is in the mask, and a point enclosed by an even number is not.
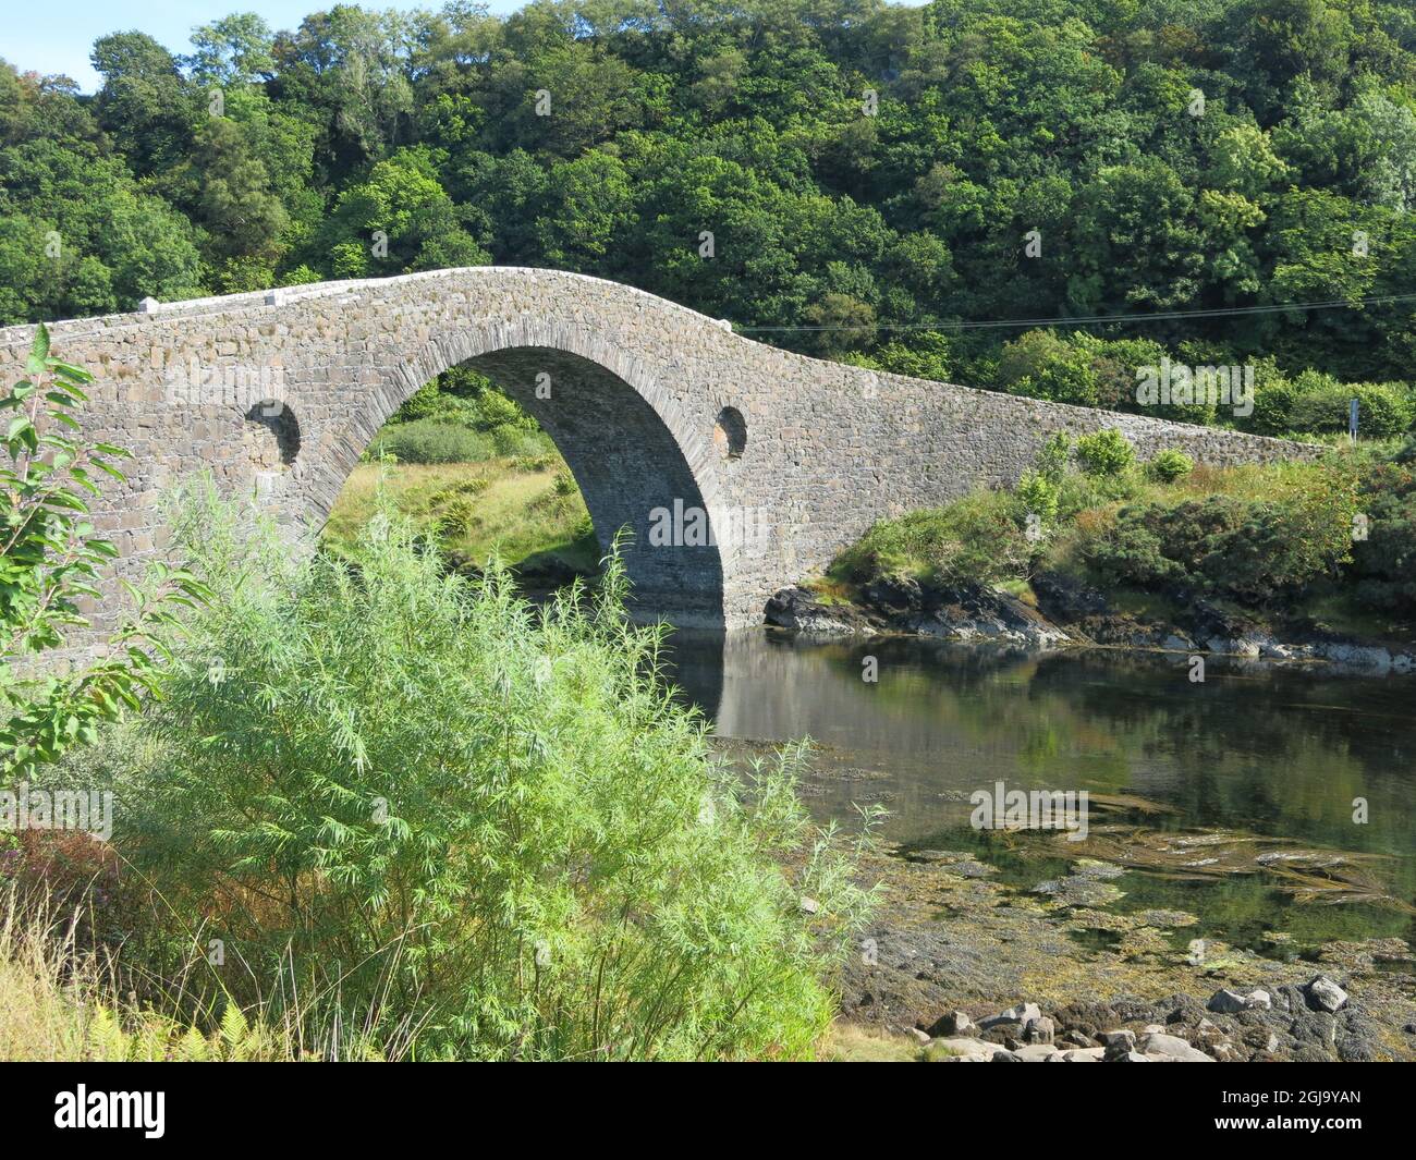
{"type": "MultiPolygon", "coordinates": [[[[336,0],[13,0],[6,4],[0,57],[21,72],[64,72],[84,92],[99,85],[88,54],[106,33],[136,28],[177,54],[190,52],[188,33],[231,13],[259,13],[276,30],[295,28],[313,11],[333,7],[336,0]]],[[[371,0],[371,8],[440,8],[442,0],[401,3],[371,0]]],[[[514,11],[521,0],[490,0],[494,13],[514,11]]]]}

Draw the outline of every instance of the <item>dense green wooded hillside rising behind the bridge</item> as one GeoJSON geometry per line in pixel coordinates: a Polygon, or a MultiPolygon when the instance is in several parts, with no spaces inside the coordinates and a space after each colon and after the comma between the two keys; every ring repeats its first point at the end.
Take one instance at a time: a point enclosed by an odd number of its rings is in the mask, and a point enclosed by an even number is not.
{"type": "Polygon", "coordinates": [[[1257,370],[1189,418],[1416,414],[1409,4],[455,0],[193,45],[102,37],[92,95],[0,65],[0,323],[545,265],[969,385],[1134,409],[1165,354],[1257,370]],[[1095,322],[1174,312],[1225,313],[1095,322]]]}

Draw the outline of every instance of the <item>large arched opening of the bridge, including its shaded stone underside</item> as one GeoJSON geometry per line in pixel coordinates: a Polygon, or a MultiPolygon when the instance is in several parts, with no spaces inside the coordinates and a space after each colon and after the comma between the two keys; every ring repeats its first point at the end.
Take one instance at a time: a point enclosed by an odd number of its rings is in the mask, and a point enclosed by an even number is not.
{"type": "Polygon", "coordinates": [[[724,627],[724,568],[708,534],[709,504],[674,432],[633,385],[590,358],[549,347],[479,354],[432,382],[439,389],[412,392],[368,440],[365,462],[346,472],[327,538],[353,538],[378,472],[368,460],[392,452],[399,462],[389,469],[389,491],[439,535],[455,564],[480,567],[494,542],[528,589],[555,588],[598,571],[623,528],[636,619],[724,627]],[[476,392],[467,371],[496,391],[470,395],[476,406],[459,418],[463,404],[449,388],[476,392]],[[429,412],[449,406],[438,412],[446,421],[439,431],[429,412]],[[498,418],[504,422],[489,429],[498,418]],[[525,527],[513,525],[518,518],[525,527]]]}

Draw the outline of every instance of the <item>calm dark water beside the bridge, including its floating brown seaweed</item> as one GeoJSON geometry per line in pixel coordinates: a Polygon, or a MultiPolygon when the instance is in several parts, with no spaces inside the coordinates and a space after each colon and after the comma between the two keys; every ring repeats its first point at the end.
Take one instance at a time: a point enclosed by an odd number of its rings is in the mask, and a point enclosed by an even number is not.
{"type": "Polygon", "coordinates": [[[1269,953],[1416,936],[1413,677],[1211,660],[1195,684],[1178,656],[772,630],[673,647],[677,680],[729,754],[817,744],[804,793],[821,817],[857,824],[852,803],[882,804],[885,834],[906,848],[973,850],[1020,888],[1079,857],[1119,861],[1131,870],[1116,909],[1184,909],[1208,936],[1269,953]],[[869,657],[875,683],[862,678],[869,657]],[[970,795],[1000,780],[1085,789],[1110,807],[1075,844],[980,833],[970,795]],[[1177,837],[1216,831],[1222,857],[1202,865],[1201,846],[1177,861],[1177,837]]]}

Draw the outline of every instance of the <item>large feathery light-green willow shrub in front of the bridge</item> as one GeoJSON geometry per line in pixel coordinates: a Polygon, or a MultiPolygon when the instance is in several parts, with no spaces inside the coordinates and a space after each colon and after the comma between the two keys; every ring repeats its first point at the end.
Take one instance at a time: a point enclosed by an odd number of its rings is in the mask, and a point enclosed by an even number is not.
{"type": "Polygon", "coordinates": [[[811,1052],[871,892],[800,754],[712,759],[615,558],[537,610],[387,511],[357,565],[210,493],[180,523],[217,595],[127,748],[119,841],[222,940],[224,987],[303,973],[422,1057],[811,1052]]]}

